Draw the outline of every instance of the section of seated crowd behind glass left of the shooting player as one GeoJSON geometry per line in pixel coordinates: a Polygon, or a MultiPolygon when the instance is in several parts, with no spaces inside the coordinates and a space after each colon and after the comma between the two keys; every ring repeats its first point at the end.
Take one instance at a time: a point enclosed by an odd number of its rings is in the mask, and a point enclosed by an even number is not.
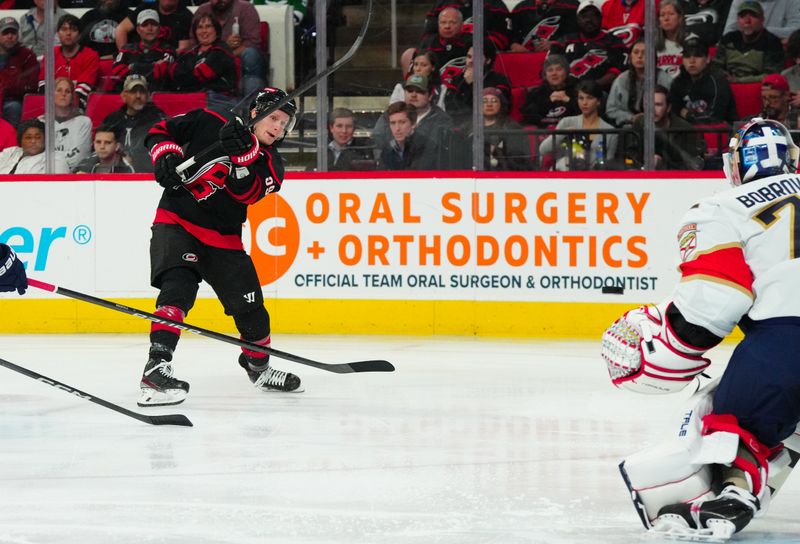
{"type": "MultiPolygon", "coordinates": [[[[55,7],[56,173],[152,172],[144,136],[167,116],[153,92],[202,93],[203,105],[231,108],[267,84],[260,18],[248,0],[207,0],[194,13],[184,0],[134,3],[55,7]],[[73,8],[91,9],[78,17],[73,8]],[[116,108],[99,108],[102,118],[90,107],[99,96],[116,108]]],[[[2,173],[44,172],[44,100],[23,108],[45,91],[45,2],[33,4],[19,20],[0,18],[2,173]]]]}

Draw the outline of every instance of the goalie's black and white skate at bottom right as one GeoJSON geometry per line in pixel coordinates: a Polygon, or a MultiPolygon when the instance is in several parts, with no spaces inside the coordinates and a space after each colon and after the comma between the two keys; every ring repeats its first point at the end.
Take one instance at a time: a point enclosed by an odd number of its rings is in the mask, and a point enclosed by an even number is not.
{"type": "Polygon", "coordinates": [[[677,540],[725,542],[744,529],[759,509],[759,500],[752,493],[728,484],[715,499],[664,506],[653,522],[653,531],[677,540]]]}

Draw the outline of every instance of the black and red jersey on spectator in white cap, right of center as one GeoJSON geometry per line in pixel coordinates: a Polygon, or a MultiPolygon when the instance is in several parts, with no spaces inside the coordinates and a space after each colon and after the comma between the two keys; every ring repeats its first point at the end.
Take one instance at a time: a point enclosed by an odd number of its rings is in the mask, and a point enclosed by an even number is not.
{"type": "Polygon", "coordinates": [[[625,68],[625,44],[601,30],[597,36],[569,34],[550,48],[551,55],[564,55],[569,73],[576,80],[598,80],[607,73],[619,74],[625,68]]]}

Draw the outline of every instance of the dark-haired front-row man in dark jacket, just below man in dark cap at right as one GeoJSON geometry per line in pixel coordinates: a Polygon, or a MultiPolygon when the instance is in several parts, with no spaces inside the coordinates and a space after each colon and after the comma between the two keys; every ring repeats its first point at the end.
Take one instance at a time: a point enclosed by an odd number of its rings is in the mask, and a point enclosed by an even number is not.
{"type": "MultiPolygon", "coordinates": [[[[669,90],[656,85],[653,94],[655,133],[655,166],[659,170],[701,170],[705,141],[682,117],[672,113],[669,103],[669,90]]],[[[628,138],[627,158],[636,166],[644,164],[642,135],[644,118],[633,121],[633,129],[638,138],[628,138]]]]}

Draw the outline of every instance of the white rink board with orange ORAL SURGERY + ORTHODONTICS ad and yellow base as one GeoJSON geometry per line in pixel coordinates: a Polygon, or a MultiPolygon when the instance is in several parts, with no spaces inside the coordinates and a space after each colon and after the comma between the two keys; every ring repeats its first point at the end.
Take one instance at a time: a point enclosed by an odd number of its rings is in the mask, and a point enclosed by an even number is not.
{"type": "MultiPolygon", "coordinates": [[[[669,295],[680,215],[726,187],[681,172],[340,176],[290,174],[250,208],[243,240],[275,332],[597,337],[669,295]]],[[[0,242],[33,278],[153,311],[159,198],[137,175],[0,177],[0,202],[14,203],[0,242]]],[[[149,328],[34,289],[1,294],[0,315],[0,333],[149,328]]],[[[205,285],[188,322],[233,332],[205,285]]]]}

